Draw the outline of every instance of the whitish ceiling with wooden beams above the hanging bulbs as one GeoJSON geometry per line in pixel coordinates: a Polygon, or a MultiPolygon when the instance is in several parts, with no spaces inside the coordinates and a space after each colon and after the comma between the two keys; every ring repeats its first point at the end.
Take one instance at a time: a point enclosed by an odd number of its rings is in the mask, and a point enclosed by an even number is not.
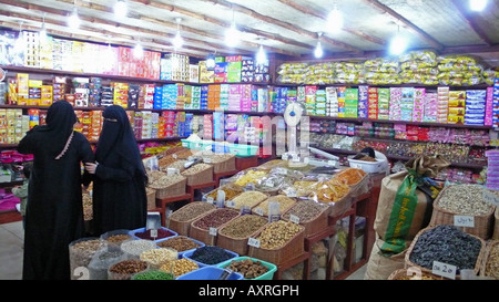
{"type": "Polygon", "coordinates": [[[482,12],[471,12],[468,0],[125,0],[129,13],[122,20],[113,14],[115,1],[0,0],[0,28],[38,31],[44,18],[53,37],[130,46],[140,41],[146,49],[173,52],[175,18],[181,17],[185,44],[180,53],[252,54],[263,44],[301,60],[313,58],[317,32],[324,32],[325,58],[385,56],[399,27],[411,49],[479,54],[499,66],[499,0],[488,0],[482,12]],[[345,19],[339,33],[326,27],[335,2],[345,19]],[[79,30],[65,23],[73,7],[82,19],[79,30]],[[230,49],[223,39],[233,15],[243,33],[230,49]]]}

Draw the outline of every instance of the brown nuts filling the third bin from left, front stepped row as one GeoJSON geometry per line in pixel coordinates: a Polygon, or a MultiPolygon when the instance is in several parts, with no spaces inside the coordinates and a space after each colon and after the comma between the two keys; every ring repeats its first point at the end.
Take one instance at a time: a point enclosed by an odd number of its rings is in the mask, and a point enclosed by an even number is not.
{"type": "Polygon", "coordinates": [[[225,225],[218,235],[232,238],[247,238],[263,226],[268,223],[268,219],[258,215],[243,215],[225,225]]]}

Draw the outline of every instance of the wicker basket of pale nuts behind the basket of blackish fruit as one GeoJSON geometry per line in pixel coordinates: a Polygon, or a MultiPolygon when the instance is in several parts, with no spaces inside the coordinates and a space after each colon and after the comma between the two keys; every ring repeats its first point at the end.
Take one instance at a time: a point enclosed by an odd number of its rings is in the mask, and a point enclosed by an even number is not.
{"type": "Polygon", "coordinates": [[[491,205],[490,207],[488,207],[489,205],[486,205],[486,201],[481,198],[482,195],[480,194],[480,191],[482,190],[487,190],[487,188],[481,187],[479,185],[452,185],[445,187],[434,201],[434,210],[431,212],[431,220],[429,226],[431,227],[438,225],[454,226],[456,216],[467,216],[467,217],[469,216],[473,218],[473,227],[459,227],[459,228],[467,233],[478,236],[485,240],[491,238],[493,230],[493,219],[495,219],[493,215],[496,207],[491,205]],[[456,192],[456,190],[458,190],[459,194],[455,194],[456,195],[455,197],[460,198],[455,198],[454,196],[449,198],[451,198],[452,202],[456,205],[455,207],[459,207],[459,209],[460,207],[464,207],[462,210],[460,210],[462,212],[448,210],[442,206],[442,199],[448,198],[447,196],[452,194],[452,191],[456,192]],[[469,200],[465,199],[464,194],[461,194],[461,191],[464,192],[466,190],[472,190],[473,192],[469,196],[469,200]],[[483,214],[477,215],[470,214],[469,212],[470,210],[472,211],[478,208],[473,207],[471,201],[481,202],[485,206],[485,208],[482,208],[483,214]],[[470,207],[470,209],[467,208],[468,206],[470,207]],[[487,207],[488,210],[486,210],[487,207]]]}

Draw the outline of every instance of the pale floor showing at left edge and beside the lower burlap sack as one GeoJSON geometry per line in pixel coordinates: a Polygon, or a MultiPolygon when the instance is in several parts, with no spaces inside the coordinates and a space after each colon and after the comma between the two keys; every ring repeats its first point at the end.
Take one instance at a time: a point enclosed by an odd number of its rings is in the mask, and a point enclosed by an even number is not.
{"type": "MultiPolygon", "coordinates": [[[[21,280],[23,242],[22,221],[0,225],[0,280],[21,280]]],[[[366,267],[355,271],[347,280],[364,280],[366,267]]]]}

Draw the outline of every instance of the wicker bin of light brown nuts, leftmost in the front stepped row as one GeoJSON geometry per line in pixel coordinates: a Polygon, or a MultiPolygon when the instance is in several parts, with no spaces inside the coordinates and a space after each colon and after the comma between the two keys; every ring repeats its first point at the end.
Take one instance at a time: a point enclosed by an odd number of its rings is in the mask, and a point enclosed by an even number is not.
{"type": "Polygon", "coordinates": [[[193,201],[175,210],[169,218],[169,228],[179,235],[189,236],[191,222],[216,206],[205,201],[193,201]]]}

